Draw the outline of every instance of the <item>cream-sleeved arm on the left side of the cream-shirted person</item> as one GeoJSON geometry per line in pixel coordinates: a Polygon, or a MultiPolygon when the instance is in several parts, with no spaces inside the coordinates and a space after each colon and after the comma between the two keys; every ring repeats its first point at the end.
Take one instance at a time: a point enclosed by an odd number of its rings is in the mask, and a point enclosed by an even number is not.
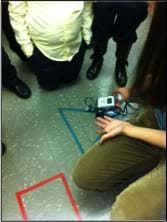
{"type": "Polygon", "coordinates": [[[26,1],[10,1],[9,17],[17,42],[20,44],[25,55],[30,57],[33,54],[34,46],[25,19],[27,4],[26,1]]]}

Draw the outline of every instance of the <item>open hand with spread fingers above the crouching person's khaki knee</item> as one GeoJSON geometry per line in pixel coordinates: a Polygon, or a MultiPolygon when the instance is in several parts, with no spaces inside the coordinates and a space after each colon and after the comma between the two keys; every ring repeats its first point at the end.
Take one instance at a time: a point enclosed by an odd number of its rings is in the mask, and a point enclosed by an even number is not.
{"type": "Polygon", "coordinates": [[[112,119],[108,116],[104,116],[104,118],[97,117],[96,125],[101,128],[96,131],[97,134],[102,135],[100,144],[109,138],[113,138],[117,135],[124,135],[126,130],[128,130],[129,127],[132,127],[128,122],[112,119]]]}

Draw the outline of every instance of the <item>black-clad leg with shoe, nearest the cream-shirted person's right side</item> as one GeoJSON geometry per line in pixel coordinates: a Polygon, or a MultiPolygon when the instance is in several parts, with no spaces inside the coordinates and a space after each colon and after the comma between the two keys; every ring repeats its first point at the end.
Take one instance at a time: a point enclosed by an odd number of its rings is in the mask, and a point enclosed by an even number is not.
{"type": "Polygon", "coordinates": [[[93,32],[93,59],[92,64],[87,70],[87,78],[95,79],[103,65],[103,56],[107,51],[108,40],[112,36],[113,22],[115,12],[111,8],[108,9],[110,3],[94,3],[94,20],[92,25],[93,32]]]}

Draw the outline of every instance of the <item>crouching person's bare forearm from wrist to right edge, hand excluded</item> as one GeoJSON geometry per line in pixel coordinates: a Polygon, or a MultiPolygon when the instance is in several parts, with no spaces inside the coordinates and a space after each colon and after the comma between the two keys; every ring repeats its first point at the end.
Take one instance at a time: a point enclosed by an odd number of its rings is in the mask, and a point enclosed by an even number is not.
{"type": "Polygon", "coordinates": [[[127,125],[124,128],[123,134],[161,148],[166,148],[166,131],[127,125]]]}

